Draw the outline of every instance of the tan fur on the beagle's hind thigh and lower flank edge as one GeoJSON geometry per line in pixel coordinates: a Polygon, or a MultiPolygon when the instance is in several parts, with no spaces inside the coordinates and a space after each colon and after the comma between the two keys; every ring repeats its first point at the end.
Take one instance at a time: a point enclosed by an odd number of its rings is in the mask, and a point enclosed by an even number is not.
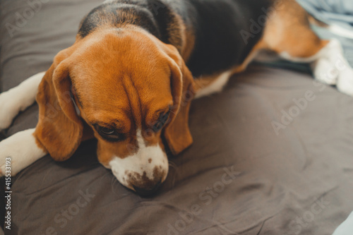
{"type": "MultiPolygon", "coordinates": [[[[275,2],[275,1],[274,1],[275,2]]],[[[321,40],[309,23],[309,15],[295,0],[277,1],[275,11],[271,12],[265,25],[263,37],[253,47],[240,66],[234,66],[232,73],[241,73],[253,61],[261,50],[277,54],[287,52],[294,58],[307,58],[318,53],[328,44],[321,40]]],[[[196,90],[201,90],[213,83],[221,73],[213,74],[196,81],[196,90]]]]}

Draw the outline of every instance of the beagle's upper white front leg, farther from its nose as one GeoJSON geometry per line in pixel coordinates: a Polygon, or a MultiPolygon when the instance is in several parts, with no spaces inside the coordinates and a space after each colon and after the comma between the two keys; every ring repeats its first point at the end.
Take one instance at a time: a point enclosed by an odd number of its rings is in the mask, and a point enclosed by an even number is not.
{"type": "Polygon", "coordinates": [[[38,86],[45,72],[37,73],[16,88],[12,88],[0,94],[0,130],[8,128],[12,120],[20,112],[35,102],[38,86]]]}

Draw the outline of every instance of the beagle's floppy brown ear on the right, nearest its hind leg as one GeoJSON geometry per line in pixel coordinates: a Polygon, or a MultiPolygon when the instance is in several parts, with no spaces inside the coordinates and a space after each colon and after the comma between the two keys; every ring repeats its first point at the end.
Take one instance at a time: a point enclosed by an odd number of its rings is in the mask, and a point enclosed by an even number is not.
{"type": "MultiPolygon", "coordinates": [[[[169,49],[171,49],[169,46],[169,49]]],[[[186,67],[177,49],[172,48],[169,56],[174,60],[172,63],[172,96],[173,108],[171,110],[171,121],[164,128],[164,138],[173,155],[189,147],[193,143],[193,138],[189,130],[189,109],[191,100],[195,94],[193,88],[193,76],[186,67]]]]}

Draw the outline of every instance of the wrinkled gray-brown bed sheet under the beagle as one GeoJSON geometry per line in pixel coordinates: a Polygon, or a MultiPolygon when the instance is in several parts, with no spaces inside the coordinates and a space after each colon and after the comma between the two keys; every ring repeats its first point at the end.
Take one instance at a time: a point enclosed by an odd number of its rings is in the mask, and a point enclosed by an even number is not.
{"type": "MultiPolygon", "coordinates": [[[[40,2],[11,35],[6,23],[30,6],[0,0],[3,91],[49,68],[102,1],[40,2]]],[[[34,104],[2,134],[36,122],[34,104]]],[[[152,198],[124,188],[97,162],[95,140],[66,162],[38,160],[13,178],[5,234],[325,235],[352,212],[352,97],[306,73],[255,65],[222,93],[195,100],[189,123],[194,143],[169,160],[152,198]]]]}

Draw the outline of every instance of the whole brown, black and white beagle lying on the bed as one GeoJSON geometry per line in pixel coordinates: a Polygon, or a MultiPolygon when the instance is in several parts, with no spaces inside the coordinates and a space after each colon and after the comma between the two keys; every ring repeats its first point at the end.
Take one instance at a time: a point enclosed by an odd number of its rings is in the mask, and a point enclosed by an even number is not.
{"type": "Polygon", "coordinates": [[[30,104],[36,128],[0,143],[0,174],[49,154],[71,157],[97,139],[100,163],[147,195],[167,178],[166,152],[193,143],[191,100],[219,92],[258,52],[310,63],[316,79],[353,95],[353,69],[336,40],[321,40],[294,0],[108,0],[80,23],[76,42],[0,95],[0,128],[30,104]]]}

